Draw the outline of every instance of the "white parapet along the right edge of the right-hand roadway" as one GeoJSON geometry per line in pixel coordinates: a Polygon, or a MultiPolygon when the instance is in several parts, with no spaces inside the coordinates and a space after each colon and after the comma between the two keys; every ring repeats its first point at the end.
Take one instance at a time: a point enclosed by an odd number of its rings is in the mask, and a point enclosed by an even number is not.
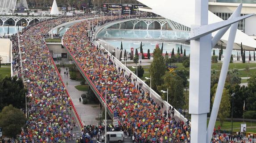
{"type": "MultiPolygon", "coordinates": [[[[98,41],[96,41],[96,44],[99,46],[100,43],[99,43],[98,41]]],[[[101,47],[100,47],[100,48],[103,48],[105,51],[107,51],[107,49],[104,48],[104,47],[102,46],[102,44],[101,44],[101,47]]],[[[107,54],[108,54],[108,56],[112,56],[112,54],[111,54],[109,51],[107,51],[107,54]]],[[[116,64],[116,68],[120,67],[120,68],[125,69],[126,75],[130,75],[130,74],[131,74],[131,78],[132,78],[132,79],[137,79],[136,84],[142,83],[142,85],[143,85],[142,88],[143,88],[145,91],[148,91],[148,92],[151,91],[151,98],[154,99],[155,102],[157,102],[157,103],[160,104],[160,105],[161,105],[161,103],[164,103],[165,108],[166,108],[166,106],[167,106],[167,107],[173,107],[172,105],[170,105],[169,103],[167,103],[165,100],[163,100],[163,99],[161,98],[161,96],[157,94],[156,91],[154,91],[153,89],[150,90],[150,87],[149,87],[143,80],[141,80],[139,77],[137,77],[136,74],[133,73],[129,68],[127,68],[123,63],[121,63],[120,60],[116,59],[115,56],[113,56],[113,57],[114,57],[113,62],[116,64]]],[[[178,112],[178,110],[174,109],[174,114],[175,114],[179,119],[181,119],[182,121],[184,121],[184,122],[187,121],[187,119],[186,119],[180,112],[178,112]]]]}

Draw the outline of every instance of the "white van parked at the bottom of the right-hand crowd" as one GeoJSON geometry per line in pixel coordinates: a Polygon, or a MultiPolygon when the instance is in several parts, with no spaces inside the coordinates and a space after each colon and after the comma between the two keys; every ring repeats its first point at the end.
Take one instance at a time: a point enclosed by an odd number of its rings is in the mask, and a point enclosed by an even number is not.
{"type": "Polygon", "coordinates": [[[124,142],[124,131],[108,131],[107,142],[124,142]]]}

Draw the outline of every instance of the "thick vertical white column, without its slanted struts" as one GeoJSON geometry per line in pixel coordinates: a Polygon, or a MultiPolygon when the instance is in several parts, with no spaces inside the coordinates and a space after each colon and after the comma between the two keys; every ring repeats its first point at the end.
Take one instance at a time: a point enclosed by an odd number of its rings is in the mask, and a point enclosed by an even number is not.
{"type": "MultiPolygon", "coordinates": [[[[208,24],[208,0],[195,0],[195,26],[208,24]]],[[[196,30],[190,32],[197,32],[196,30]]],[[[210,111],[211,34],[190,41],[191,143],[206,143],[207,113],[210,111]]]]}

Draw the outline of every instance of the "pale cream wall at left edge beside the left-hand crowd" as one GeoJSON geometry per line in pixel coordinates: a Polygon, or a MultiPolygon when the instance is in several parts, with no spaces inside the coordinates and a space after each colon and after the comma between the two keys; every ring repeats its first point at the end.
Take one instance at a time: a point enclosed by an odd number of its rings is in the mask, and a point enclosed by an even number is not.
{"type": "Polygon", "coordinates": [[[0,39],[1,63],[11,63],[11,41],[9,39],[0,39]]]}

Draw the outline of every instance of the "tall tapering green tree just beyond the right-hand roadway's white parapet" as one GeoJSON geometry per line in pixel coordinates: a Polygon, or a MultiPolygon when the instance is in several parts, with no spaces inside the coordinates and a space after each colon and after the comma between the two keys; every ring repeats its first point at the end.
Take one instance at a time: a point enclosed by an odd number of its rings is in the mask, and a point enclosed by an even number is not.
{"type": "Polygon", "coordinates": [[[152,89],[156,90],[157,86],[161,85],[161,77],[165,75],[165,61],[161,54],[160,48],[156,47],[153,52],[153,62],[150,65],[150,75],[152,76],[152,89]]]}

